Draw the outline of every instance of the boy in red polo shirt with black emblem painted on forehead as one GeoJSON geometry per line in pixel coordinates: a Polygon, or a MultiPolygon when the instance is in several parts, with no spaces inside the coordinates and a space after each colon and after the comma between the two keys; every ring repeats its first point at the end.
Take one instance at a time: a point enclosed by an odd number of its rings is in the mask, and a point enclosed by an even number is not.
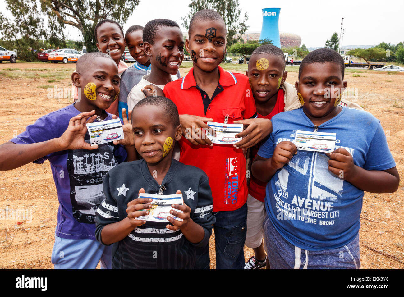
{"type": "MultiPolygon", "coordinates": [[[[205,171],[213,194],[217,269],[244,267],[246,238],[246,160],[242,148],[255,145],[272,130],[268,119],[256,119],[248,78],[224,71],[219,64],[226,53],[226,27],[213,10],[196,13],[189,23],[185,47],[194,67],[182,80],[169,82],[164,94],[177,105],[184,134],[180,161],[205,171]],[[193,116],[191,116],[193,115],[193,116]],[[248,125],[236,135],[241,141],[215,144],[206,138],[206,121],[248,125]],[[186,138],[186,139],[185,139],[186,138]]],[[[206,211],[210,210],[206,209],[206,211]]],[[[208,246],[197,251],[196,268],[209,268],[208,246]]]]}

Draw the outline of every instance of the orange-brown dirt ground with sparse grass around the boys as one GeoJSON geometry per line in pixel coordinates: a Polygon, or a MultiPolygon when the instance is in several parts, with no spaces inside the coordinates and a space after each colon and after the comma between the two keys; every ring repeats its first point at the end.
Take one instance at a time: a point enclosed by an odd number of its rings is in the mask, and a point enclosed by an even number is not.
{"type": "MultiPolygon", "coordinates": [[[[56,95],[48,92],[48,88],[70,87],[70,74],[75,65],[0,64],[0,143],[23,132],[40,116],[72,102],[65,98],[48,99],[52,94],[56,95]]],[[[297,69],[287,68],[287,81],[294,84],[297,69]]],[[[181,75],[188,71],[181,68],[181,75]]],[[[404,73],[347,70],[345,80],[348,87],[357,88],[358,99],[350,100],[381,121],[403,177],[404,73]]],[[[50,256],[58,206],[48,161],[42,165],[31,163],[12,171],[0,171],[0,268],[53,269],[50,256]],[[14,219],[10,217],[14,209],[24,209],[25,218],[21,218],[21,214],[14,219]]],[[[365,193],[360,229],[361,269],[404,269],[403,206],[403,182],[393,194],[365,193]]],[[[252,249],[246,248],[244,255],[247,260],[253,255],[252,249]]],[[[215,268],[214,236],[210,239],[210,256],[211,268],[215,268]]]]}

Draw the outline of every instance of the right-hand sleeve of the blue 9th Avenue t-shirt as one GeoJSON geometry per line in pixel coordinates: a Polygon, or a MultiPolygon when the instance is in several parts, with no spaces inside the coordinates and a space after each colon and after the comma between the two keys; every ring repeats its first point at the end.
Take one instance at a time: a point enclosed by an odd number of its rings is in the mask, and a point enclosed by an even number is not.
{"type": "Polygon", "coordinates": [[[370,142],[366,162],[363,166],[366,170],[386,170],[396,166],[380,121],[378,121],[378,124],[376,133],[370,142]]]}

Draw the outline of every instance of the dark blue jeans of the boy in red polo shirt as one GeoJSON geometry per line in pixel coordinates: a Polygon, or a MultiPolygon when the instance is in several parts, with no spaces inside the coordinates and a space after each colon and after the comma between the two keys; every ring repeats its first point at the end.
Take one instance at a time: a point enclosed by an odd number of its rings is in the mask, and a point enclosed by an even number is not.
{"type": "MultiPolygon", "coordinates": [[[[215,230],[216,269],[243,269],[247,234],[247,204],[234,211],[217,211],[215,230]]],[[[195,269],[209,269],[209,246],[197,248],[195,269]]]]}

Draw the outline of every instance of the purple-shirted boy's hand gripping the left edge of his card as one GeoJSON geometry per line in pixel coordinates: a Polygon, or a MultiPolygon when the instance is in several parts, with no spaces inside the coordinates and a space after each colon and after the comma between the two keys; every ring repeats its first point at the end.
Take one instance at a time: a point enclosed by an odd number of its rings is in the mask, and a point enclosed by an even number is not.
{"type": "Polygon", "coordinates": [[[91,146],[90,143],[84,141],[84,135],[87,133],[86,122],[92,123],[96,118],[95,110],[82,112],[71,118],[66,131],[58,138],[58,143],[62,150],[97,149],[98,145],[91,146]]]}

